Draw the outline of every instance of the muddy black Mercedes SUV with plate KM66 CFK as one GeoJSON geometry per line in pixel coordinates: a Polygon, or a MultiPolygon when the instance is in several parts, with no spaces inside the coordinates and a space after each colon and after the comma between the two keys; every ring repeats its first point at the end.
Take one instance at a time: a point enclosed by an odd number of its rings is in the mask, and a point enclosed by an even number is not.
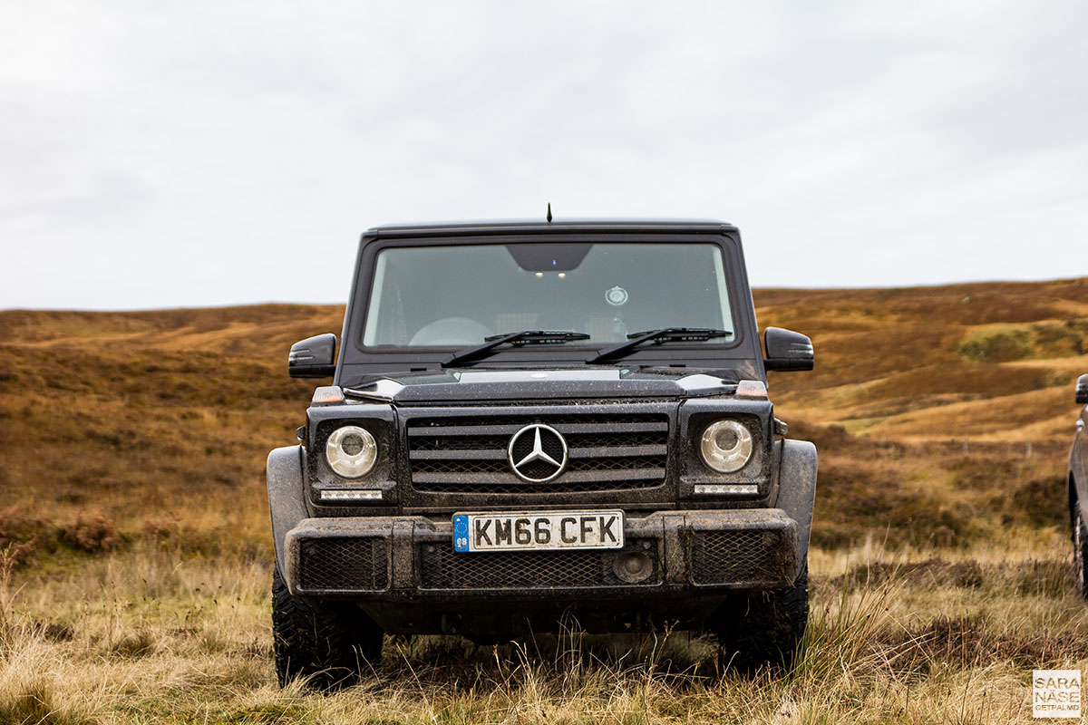
{"type": "Polygon", "coordinates": [[[669,624],[734,662],[807,618],[816,450],[787,440],[740,234],[720,222],[387,226],[359,243],[332,376],[269,455],[281,683],[351,682],[384,634],[497,641],[669,624]]]}

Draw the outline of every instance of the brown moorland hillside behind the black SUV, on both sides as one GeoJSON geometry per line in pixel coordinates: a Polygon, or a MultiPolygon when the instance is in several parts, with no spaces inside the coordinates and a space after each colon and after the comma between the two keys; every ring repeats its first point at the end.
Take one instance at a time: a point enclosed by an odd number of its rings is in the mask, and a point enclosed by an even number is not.
{"type": "MultiPolygon", "coordinates": [[[[1061,523],[1088,279],[755,297],[762,325],[816,345],[816,371],[771,387],[820,446],[818,542],[1061,523]]],[[[343,312],[0,312],[0,548],[29,562],[148,537],[264,557],[264,458],[313,388],[287,377],[287,348],[338,334],[343,312]]]]}

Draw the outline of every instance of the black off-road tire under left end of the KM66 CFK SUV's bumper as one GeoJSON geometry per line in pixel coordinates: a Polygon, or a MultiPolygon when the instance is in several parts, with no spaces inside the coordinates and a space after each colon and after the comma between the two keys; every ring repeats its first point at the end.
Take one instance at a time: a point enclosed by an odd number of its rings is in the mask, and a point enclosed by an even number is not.
{"type": "Polygon", "coordinates": [[[314,689],[354,685],[382,654],[382,630],[353,604],[292,597],[272,574],[272,640],[280,687],[297,677],[314,689]]]}

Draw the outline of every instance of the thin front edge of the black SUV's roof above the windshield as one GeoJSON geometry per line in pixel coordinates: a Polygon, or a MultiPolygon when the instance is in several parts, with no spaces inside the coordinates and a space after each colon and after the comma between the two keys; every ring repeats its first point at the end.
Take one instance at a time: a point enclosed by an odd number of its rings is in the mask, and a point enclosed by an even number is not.
{"type": "Polygon", "coordinates": [[[492,220],[472,222],[441,222],[425,224],[388,224],[376,226],[363,233],[363,237],[430,237],[486,234],[548,234],[555,232],[578,232],[606,234],[626,233],[679,233],[707,234],[735,230],[732,224],[717,220],[606,220],[573,218],[564,221],[542,220],[492,220]]]}

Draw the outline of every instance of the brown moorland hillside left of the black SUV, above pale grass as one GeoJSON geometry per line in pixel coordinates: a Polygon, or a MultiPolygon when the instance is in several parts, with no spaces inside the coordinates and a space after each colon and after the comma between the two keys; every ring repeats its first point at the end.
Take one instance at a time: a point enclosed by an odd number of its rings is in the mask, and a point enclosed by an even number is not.
{"type": "Polygon", "coordinates": [[[287,348],[338,334],[343,315],[0,312],[0,548],[49,557],[104,521],[129,538],[263,550],[264,457],[293,442],[313,388],[287,377],[287,348]]]}

